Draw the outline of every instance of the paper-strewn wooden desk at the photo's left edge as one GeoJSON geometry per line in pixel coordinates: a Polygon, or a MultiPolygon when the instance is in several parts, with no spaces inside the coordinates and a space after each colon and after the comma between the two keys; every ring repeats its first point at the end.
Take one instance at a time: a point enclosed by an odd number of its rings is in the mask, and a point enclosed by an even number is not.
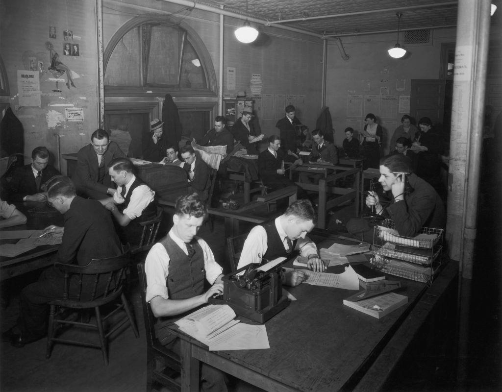
{"type": "MultiPolygon", "coordinates": [[[[24,203],[15,203],[16,207],[23,212],[28,221],[26,224],[6,227],[0,230],[41,230],[51,224],[63,226],[64,217],[57,210],[50,212],[46,207],[45,202],[28,201],[24,203]],[[40,212],[47,210],[49,212],[40,212]],[[39,212],[37,212],[39,211],[39,212]]],[[[1,237],[1,235],[0,235],[1,237]]],[[[18,239],[0,239],[0,243],[16,243],[18,239]]],[[[51,266],[54,261],[54,254],[57,252],[59,245],[43,245],[37,246],[35,249],[21,253],[16,257],[0,256],[0,281],[13,278],[30,271],[38,270],[51,266]]]]}

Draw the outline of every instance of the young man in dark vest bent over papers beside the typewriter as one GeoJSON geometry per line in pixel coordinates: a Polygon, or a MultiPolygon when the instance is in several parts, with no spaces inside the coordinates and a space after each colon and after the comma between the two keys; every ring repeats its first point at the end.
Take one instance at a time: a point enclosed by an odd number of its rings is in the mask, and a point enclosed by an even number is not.
{"type": "MultiPolygon", "coordinates": [[[[275,220],[253,227],[242,247],[237,269],[251,263],[262,264],[262,259],[285,257],[293,250],[307,257],[307,266],[316,272],[325,270],[317,253],[317,247],[307,233],[315,226],[316,216],[309,200],[297,200],[275,220]]],[[[286,269],[284,284],[297,286],[303,282],[300,270],[286,269]]]]}

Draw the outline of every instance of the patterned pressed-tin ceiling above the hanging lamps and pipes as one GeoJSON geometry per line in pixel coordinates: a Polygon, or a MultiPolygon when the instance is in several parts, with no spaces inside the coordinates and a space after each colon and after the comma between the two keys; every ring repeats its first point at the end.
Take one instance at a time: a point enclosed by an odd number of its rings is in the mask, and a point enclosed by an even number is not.
{"type": "MultiPolygon", "coordinates": [[[[204,0],[197,3],[245,15],[245,0],[204,0]]],[[[401,30],[456,26],[457,2],[434,0],[248,0],[249,17],[317,33],[352,35],[394,31],[396,13],[401,30]],[[309,19],[316,17],[327,18],[309,19]]]]}

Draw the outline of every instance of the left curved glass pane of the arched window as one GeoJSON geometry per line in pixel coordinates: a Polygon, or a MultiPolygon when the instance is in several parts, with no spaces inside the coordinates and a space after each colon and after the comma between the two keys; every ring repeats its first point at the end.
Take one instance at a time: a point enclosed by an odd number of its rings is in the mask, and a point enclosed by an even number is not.
{"type": "Polygon", "coordinates": [[[141,86],[138,28],[124,35],[113,49],[106,65],[104,84],[108,86],[141,86]]]}

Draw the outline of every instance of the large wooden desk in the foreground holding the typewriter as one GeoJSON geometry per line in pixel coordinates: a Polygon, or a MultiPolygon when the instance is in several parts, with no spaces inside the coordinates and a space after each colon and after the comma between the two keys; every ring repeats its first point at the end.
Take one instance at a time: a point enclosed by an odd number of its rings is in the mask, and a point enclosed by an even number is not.
{"type": "Polygon", "coordinates": [[[380,320],[343,305],[354,291],[288,288],[297,301],[266,322],[267,350],[208,351],[173,329],[181,338],[181,390],[198,390],[199,361],[274,392],[379,390],[426,317],[441,311],[457,273],[450,262],[430,288],[402,280],[408,305],[380,320]]]}

